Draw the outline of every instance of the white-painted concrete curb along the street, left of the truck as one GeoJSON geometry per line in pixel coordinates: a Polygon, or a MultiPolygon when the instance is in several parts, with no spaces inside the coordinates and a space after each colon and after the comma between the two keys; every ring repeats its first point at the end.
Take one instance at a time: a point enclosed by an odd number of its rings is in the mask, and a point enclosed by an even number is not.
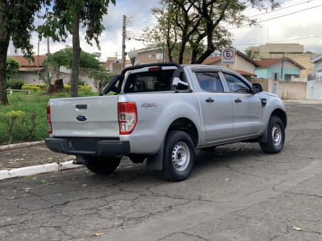
{"type": "Polygon", "coordinates": [[[63,171],[67,169],[73,169],[77,167],[82,167],[82,165],[74,165],[72,164],[72,160],[65,163],[48,163],[45,165],[37,165],[30,167],[21,167],[14,168],[11,170],[2,170],[0,171],[0,180],[10,179],[10,178],[18,178],[21,176],[32,176],[37,174],[46,174],[55,171],[63,171]]]}

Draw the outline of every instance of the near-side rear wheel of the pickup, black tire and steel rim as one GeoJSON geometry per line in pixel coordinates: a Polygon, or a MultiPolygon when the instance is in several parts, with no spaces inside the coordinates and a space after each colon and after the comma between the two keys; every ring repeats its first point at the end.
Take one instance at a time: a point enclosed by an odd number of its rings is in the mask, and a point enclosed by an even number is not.
{"type": "Polygon", "coordinates": [[[165,138],[161,177],[174,182],[185,180],[194,166],[194,156],[194,143],[189,134],[170,132],[165,138]]]}

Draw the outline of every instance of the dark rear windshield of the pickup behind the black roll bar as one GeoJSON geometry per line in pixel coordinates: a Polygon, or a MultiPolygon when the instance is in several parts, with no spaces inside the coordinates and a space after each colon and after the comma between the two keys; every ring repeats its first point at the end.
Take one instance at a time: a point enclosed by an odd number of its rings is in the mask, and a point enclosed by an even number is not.
{"type": "Polygon", "coordinates": [[[158,70],[129,74],[124,93],[171,90],[173,72],[174,70],[158,70]]]}

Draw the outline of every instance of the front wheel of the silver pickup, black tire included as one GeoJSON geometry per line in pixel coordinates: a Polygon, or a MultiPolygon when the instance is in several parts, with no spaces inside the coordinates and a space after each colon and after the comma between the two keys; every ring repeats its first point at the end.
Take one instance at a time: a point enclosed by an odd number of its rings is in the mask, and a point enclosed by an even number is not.
{"type": "Polygon", "coordinates": [[[268,154],[279,153],[284,146],[285,142],[285,127],[283,121],[277,116],[270,116],[268,123],[268,142],[259,143],[261,149],[268,154]],[[281,135],[281,139],[276,141],[276,128],[279,129],[277,132],[281,135]],[[274,136],[274,137],[273,137],[274,136]]]}

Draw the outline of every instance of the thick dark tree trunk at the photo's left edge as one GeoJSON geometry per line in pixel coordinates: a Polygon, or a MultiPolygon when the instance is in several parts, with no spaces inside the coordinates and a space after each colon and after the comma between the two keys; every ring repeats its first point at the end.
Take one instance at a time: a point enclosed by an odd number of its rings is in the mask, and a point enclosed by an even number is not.
{"type": "Polygon", "coordinates": [[[6,61],[7,52],[10,42],[10,32],[8,30],[8,16],[5,9],[6,1],[0,2],[0,103],[9,105],[7,98],[7,76],[6,76],[6,61]]]}

